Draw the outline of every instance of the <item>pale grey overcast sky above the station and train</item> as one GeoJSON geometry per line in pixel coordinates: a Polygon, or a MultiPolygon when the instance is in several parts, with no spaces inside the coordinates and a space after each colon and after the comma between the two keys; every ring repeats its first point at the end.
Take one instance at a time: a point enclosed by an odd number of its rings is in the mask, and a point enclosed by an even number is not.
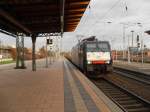
{"type": "MultiPolygon", "coordinates": [[[[144,44],[150,48],[150,36],[144,34],[150,30],[150,0],[91,0],[80,24],[75,32],[64,33],[63,49],[70,50],[77,43],[77,37],[86,38],[95,35],[99,40],[108,40],[113,49],[122,49],[123,24],[126,26],[126,46],[129,38],[131,44],[131,30],[144,39],[144,44]],[[111,23],[108,23],[111,22],[111,23]],[[134,23],[141,23],[136,25],[134,23]]],[[[15,39],[0,34],[3,43],[15,45],[15,39]],[[11,41],[10,41],[11,40],[11,41]]],[[[37,47],[44,45],[45,40],[37,39],[37,47]]],[[[31,39],[25,39],[25,45],[31,47],[31,39]]],[[[136,45],[136,44],[134,44],[136,45]]]]}

